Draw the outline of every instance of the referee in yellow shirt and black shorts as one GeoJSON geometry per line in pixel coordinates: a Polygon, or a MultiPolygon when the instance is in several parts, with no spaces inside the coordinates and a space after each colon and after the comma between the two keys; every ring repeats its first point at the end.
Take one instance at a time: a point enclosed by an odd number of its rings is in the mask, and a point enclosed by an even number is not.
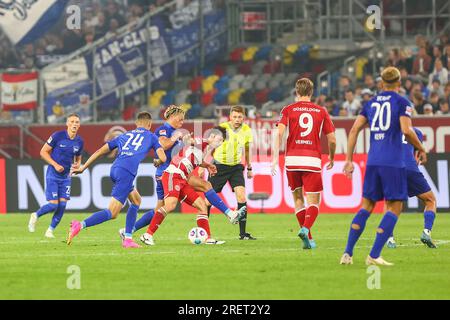
{"type": "MultiPolygon", "coordinates": [[[[222,123],[220,126],[227,130],[227,140],[215,150],[214,164],[217,166],[217,174],[210,176],[209,182],[217,193],[222,192],[227,182],[233,189],[238,209],[247,206],[247,195],[245,193],[245,167],[242,165],[242,157],[245,155],[247,165],[247,178],[253,179],[251,164],[251,143],[253,142],[252,129],[244,123],[245,109],[240,106],[231,108],[230,121],[222,123]]],[[[208,215],[211,212],[211,205],[208,204],[208,215]]],[[[246,230],[247,213],[245,219],[239,223],[240,240],[256,240],[246,230]]]]}

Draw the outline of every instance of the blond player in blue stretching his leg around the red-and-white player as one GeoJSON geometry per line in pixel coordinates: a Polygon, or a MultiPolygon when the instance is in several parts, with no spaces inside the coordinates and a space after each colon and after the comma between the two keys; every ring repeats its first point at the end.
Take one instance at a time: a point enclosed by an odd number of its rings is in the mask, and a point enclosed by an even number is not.
{"type": "MultiPolygon", "coordinates": [[[[170,106],[164,113],[166,123],[156,129],[155,134],[159,137],[159,143],[166,152],[166,161],[163,162],[160,159],[155,161],[156,171],[156,192],[158,195],[157,207],[154,210],[146,212],[137,222],[133,229],[136,232],[144,227],[148,227],[150,222],[160,208],[164,206],[164,188],[162,184],[162,175],[168,168],[172,161],[172,156],[178,154],[182,150],[184,144],[181,141],[183,137],[190,137],[190,134],[183,136],[183,132],[180,131],[183,127],[185,111],[178,106],[170,106]]],[[[231,223],[235,224],[239,218],[239,211],[233,211],[227,207],[218,194],[214,191],[210,182],[201,179],[195,175],[191,175],[188,179],[188,184],[191,185],[195,191],[203,192],[208,201],[218,208],[225,216],[228,217],[231,223]]],[[[125,230],[120,229],[119,235],[123,239],[125,230]]],[[[222,244],[222,242],[215,242],[214,244],[222,244]]]]}

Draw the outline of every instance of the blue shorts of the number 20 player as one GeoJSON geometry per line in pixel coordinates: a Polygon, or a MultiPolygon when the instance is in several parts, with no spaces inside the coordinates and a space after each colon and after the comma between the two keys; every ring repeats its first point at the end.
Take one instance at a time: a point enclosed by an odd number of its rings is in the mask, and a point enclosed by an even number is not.
{"type": "Polygon", "coordinates": [[[363,197],[372,201],[408,200],[406,169],[367,166],[363,197]]]}

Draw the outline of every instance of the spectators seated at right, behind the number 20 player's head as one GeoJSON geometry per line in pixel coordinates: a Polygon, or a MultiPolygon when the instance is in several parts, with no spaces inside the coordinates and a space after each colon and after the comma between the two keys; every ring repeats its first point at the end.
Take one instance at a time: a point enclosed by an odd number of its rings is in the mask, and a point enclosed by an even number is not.
{"type": "MultiPolygon", "coordinates": [[[[385,67],[395,66],[402,75],[400,94],[414,106],[415,115],[450,115],[450,41],[448,35],[430,44],[424,36],[416,37],[416,54],[393,48],[385,67]]],[[[332,116],[355,116],[364,103],[382,90],[381,77],[366,73],[359,81],[343,75],[339,79],[337,95],[320,95],[316,102],[326,106],[332,116]]]]}

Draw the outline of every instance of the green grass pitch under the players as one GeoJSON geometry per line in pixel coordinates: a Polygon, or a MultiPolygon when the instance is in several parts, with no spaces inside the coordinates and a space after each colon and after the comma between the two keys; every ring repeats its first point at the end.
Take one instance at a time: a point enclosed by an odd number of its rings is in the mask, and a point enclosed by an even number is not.
{"type": "MultiPolygon", "coordinates": [[[[211,227],[223,246],[194,246],[187,240],[194,215],[172,215],[156,234],[157,246],[121,248],[119,220],[83,231],[72,246],[63,243],[66,215],[57,239],[27,231],[28,215],[0,216],[0,299],[450,299],[450,215],[439,214],[433,237],[439,248],[419,241],[422,215],[403,215],[400,247],[384,249],[395,263],[381,268],[381,288],[368,289],[365,258],[381,216],[373,216],[355,251],[353,266],[339,265],[351,215],[321,215],[313,233],[319,248],[304,251],[293,215],[250,215],[257,241],[236,238],[237,227],[214,215],[211,227]],[[81,271],[81,289],[69,290],[69,266],[81,271]]],[[[141,233],[138,233],[140,235],[141,233]]],[[[137,236],[136,236],[137,238],[137,236]]],[[[370,282],[370,281],[369,281],[370,282]]]]}

